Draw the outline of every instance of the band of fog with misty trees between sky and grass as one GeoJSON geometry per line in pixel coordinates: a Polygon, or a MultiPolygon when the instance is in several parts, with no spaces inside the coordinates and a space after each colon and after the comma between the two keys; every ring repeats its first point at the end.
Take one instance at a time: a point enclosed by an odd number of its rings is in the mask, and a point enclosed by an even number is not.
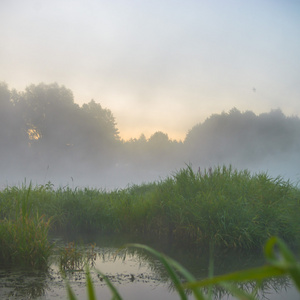
{"type": "Polygon", "coordinates": [[[300,120],[280,109],[213,114],[183,141],[161,131],[125,141],[113,112],[97,101],[79,106],[56,83],[24,91],[0,84],[1,188],[32,182],[111,190],[163,180],[186,165],[224,164],[296,184],[299,153],[300,120]]]}

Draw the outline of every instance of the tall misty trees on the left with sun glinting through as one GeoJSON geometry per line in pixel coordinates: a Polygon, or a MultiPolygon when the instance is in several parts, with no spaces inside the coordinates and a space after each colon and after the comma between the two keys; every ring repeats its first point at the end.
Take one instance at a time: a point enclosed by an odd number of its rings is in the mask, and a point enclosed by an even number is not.
{"type": "Polygon", "coordinates": [[[119,151],[112,113],[93,100],[79,107],[72,92],[57,83],[30,85],[24,92],[9,91],[2,84],[0,108],[1,147],[12,149],[13,136],[22,133],[14,149],[20,149],[17,156],[32,168],[97,168],[111,165],[119,151]]]}

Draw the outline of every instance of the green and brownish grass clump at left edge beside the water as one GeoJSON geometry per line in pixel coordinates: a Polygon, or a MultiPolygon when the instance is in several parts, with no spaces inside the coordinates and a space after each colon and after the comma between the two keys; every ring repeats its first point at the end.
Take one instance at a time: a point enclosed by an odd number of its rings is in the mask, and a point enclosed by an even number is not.
{"type": "Polygon", "coordinates": [[[48,240],[51,218],[33,207],[29,187],[6,188],[0,194],[0,261],[47,269],[52,244],[48,240]]]}

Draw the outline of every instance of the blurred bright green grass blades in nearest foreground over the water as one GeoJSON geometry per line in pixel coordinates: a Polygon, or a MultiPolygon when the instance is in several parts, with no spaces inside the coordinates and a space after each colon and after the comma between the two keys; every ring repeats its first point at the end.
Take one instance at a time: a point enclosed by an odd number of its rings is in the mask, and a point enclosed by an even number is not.
{"type": "MultiPolygon", "coordinates": [[[[196,278],[178,262],[148,246],[140,244],[131,244],[128,246],[145,249],[156,256],[164,265],[180,299],[182,300],[188,299],[188,290],[193,292],[195,299],[212,299],[212,294],[210,292],[204,292],[204,289],[207,291],[208,288],[208,291],[210,291],[213,286],[217,286],[228,291],[237,299],[253,300],[257,299],[257,293],[259,291],[259,287],[263,283],[263,280],[271,277],[282,277],[286,275],[290,276],[300,293],[300,264],[297,262],[291,251],[287,248],[286,244],[277,237],[270,238],[265,245],[265,257],[267,261],[266,265],[245,271],[238,271],[215,277],[212,276],[201,281],[197,281],[196,278]],[[183,276],[184,281],[182,281],[178,273],[183,276]],[[251,293],[238,287],[239,283],[251,281],[255,281],[257,283],[256,287],[251,293]]],[[[112,299],[122,300],[121,295],[111,281],[101,272],[99,272],[99,274],[103,277],[109,289],[111,290],[112,299]]],[[[89,299],[96,299],[94,285],[92,283],[89,270],[87,270],[86,273],[86,283],[89,299]]],[[[68,282],[67,291],[69,299],[75,300],[75,294],[68,282]]]]}

